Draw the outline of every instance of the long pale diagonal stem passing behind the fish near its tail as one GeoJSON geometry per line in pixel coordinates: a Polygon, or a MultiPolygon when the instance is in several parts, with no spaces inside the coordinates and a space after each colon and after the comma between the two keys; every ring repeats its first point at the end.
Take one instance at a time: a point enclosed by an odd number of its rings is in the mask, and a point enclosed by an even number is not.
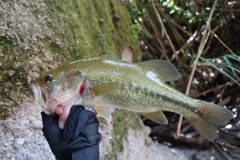
{"type": "MultiPolygon", "coordinates": [[[[204,46],[205,46],[205,44],[206,44],[206,41],[207,41],[207,39],[208,39],[208,37],[209,37],[208,28],[209,28],[209,26],[210,26],[210,22],[211,22],[211,19],[212,19],[212,15],[213,15],[213,12],[214,12],[214,10],[215,10],[215,8],[216,8],[217,2],[218,2],[218,0],[215,0],[215,1],[214,1],[213,7],[212,7],[212,9],[211,9],[211,12],[210,12],[210,14],[209,14],[208,20],[207,20],[207,22],[206,22],[206,27],[205,27],[205,29],[204,29],[204,33],[205,33],[205,34],[204,34],[203,37],[202,37],[200,46],[199,46],[199,48],[198,48],[198,53],[197,53],[196,60],[195,60],[195,62],[193,63],[192,72],[191,72],[191,75],[190,75],[190,78],[189,78],[189,81],[188,81],[188,85],[187,85],[187,89],[186,89],[186,95],[189,94],[190,87],[191,87],[191,83],[192,83],[192,79],[193,79],[193,75],[194,75],[195,70],[196,70],[196,66],[197,66],[198,59],[199,59],[200,55],[202,54],[203,48],[204,48],[204,46]]],[[[180,115],[180,118],[179,118],[179,123],[178,123],[178,128],[177,128],[177,133],[176,133],[177,137],[178,137],[179,134],[180,134],[181,123],[182,123],[182,115],[180,115]]]]}

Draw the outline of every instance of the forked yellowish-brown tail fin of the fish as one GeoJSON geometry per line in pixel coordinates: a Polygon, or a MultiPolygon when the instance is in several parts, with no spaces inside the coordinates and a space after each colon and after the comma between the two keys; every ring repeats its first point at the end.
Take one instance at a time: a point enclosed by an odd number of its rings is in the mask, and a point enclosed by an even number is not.
{"type": "Polygon", "coordinates": [[[217,136],[217,127],[225,125],[233,113],[221,106],[205,101],[198,101],[199,116],[188,118],[189,122],[204,138],[213,141],[217,136]]]}

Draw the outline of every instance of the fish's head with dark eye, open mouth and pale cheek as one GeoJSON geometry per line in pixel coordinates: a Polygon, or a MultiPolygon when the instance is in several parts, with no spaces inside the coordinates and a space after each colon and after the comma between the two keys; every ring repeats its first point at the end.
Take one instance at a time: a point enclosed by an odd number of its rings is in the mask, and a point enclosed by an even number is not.
{"type": "Polygon", "coordinates": [[[84,74],[78,69],[60,67],[43,74],[30,84],[44,112],[53,115],[58,105],[72,106],[81,100],[84,74]]]}

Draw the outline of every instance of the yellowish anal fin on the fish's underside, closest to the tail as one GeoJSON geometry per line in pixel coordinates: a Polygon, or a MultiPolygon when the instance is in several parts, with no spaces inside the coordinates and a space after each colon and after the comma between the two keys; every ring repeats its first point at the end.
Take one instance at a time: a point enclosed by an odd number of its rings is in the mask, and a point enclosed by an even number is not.
{"type": "Polygon", "coordinates": [[[161,123],[161,124],[168,124],[167,118],[160,110],[158,110],[156,112],[139,112],[139,114],[152,120],[153,122],[161,123]]]}

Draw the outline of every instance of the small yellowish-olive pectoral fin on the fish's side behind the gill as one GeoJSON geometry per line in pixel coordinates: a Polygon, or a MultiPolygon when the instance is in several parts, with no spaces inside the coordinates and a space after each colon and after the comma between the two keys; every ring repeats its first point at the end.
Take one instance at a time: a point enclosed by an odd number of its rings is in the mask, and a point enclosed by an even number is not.
{"type": "Polygon", "coordinates": [[[116,89],[117,87],[111,84],[104,84],[104,85],[95,86],[92,88],[94,96],[102,96],[105,94],[110,94],[114,92],[116,89]]]}

